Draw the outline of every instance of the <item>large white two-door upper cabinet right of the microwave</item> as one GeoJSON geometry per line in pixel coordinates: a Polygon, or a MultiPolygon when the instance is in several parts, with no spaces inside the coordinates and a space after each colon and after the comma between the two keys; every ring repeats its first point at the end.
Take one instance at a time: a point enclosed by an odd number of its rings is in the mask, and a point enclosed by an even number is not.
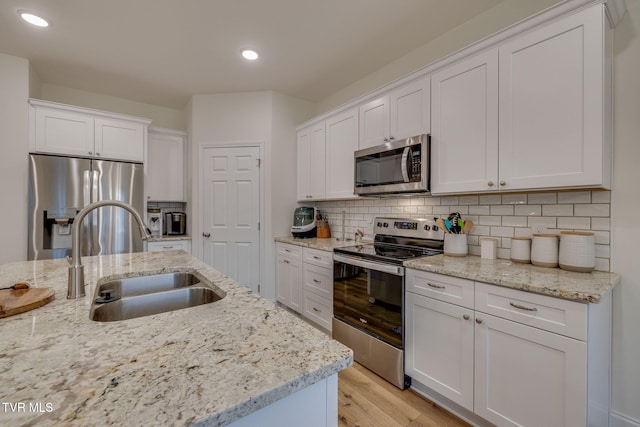
{"type": "Polygon", "coordinates": [[[610,42],[596,5],[435,73],[432,193],[609,188],[610,42]]]}

